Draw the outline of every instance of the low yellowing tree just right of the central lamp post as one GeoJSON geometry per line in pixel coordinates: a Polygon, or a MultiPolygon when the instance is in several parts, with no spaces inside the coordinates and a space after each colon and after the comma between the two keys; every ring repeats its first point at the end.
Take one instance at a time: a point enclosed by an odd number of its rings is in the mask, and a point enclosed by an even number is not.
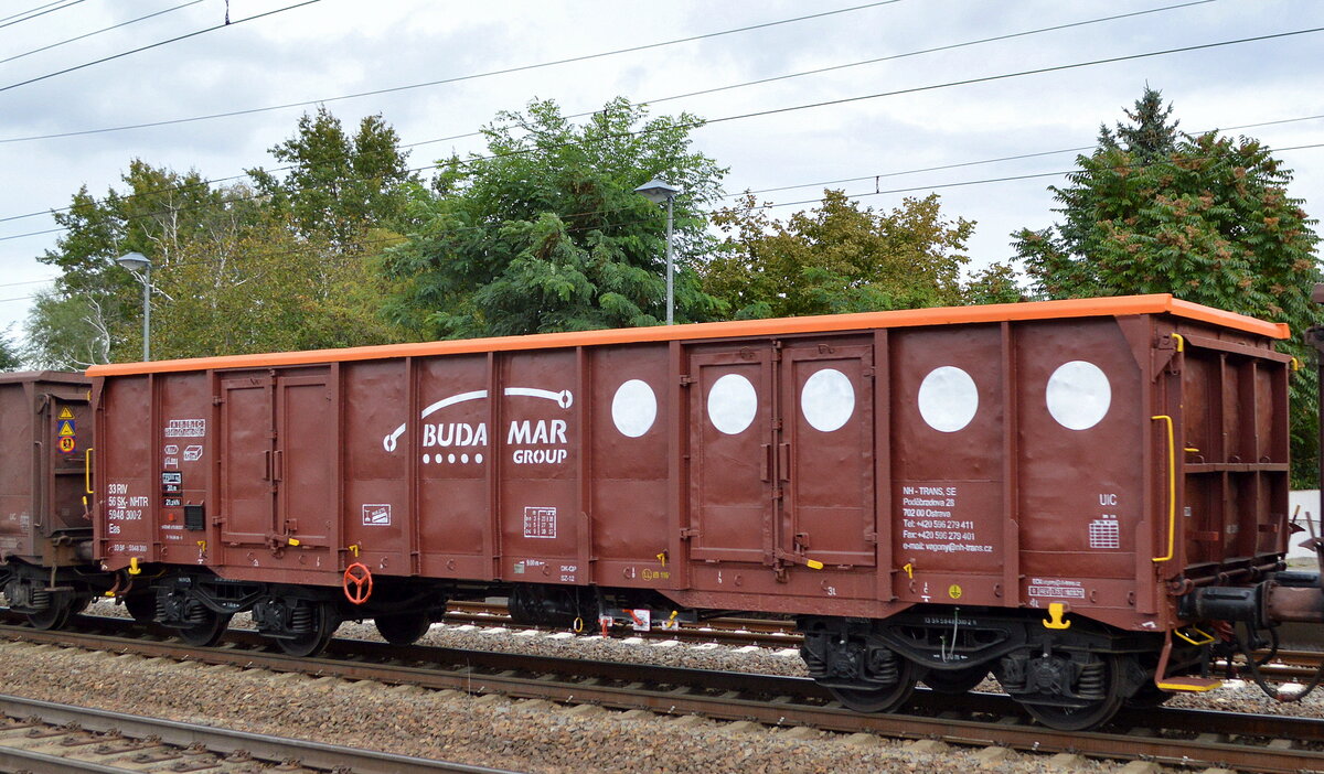
{"type": "Polygon", "coordinates": [[[961,303],[960,273],[974,224],[945,220],[937,194],[891,212],[861,209],[841,191],[786,222],[752,194],[720,210],[728,234],[703,288],[736,319],[902,310],[961,303]]]}

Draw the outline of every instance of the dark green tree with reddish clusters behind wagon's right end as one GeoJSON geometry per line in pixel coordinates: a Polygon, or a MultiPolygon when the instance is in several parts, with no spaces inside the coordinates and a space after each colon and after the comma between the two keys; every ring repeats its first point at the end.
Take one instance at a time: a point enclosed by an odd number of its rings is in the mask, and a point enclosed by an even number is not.
{"type": "MultiPolygon", "coordinates": [[[[1119,124],[1116,142],[1078,156],[1068,184],[1051,188],[1061,224],[1013,234],[1034,288],[1047,298],[1170,292],[1290,323],[1300,336],[1321,277],[1317,221],[1288,194],[1291,171],[1250,138],[1174,135],[1156,95],[1147,89],[1128,112],[1148,127],[1119,124]]],[[[1300,339],[1282,348],[1307,359],[1300,339]]],[[[1291,389],[1294,479],[1305,483],[1317,452],[1313,373],[1298,372],[1291,389]]]]}

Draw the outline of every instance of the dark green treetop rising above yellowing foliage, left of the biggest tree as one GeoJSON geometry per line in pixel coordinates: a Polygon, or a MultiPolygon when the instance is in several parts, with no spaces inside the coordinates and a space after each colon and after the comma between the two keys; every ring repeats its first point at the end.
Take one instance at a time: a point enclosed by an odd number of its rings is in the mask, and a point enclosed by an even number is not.
{"type": "Polygon", "coordinates": [[[342,249],[357,246],[368,229],[395,226],[418,183],[400,136],[380,114],[365,116],[350,136],[339,118],[319,107],[269,152],[287,165],[283,176],[261,167],[248,171],[267,208],[301,236],[328,238],[342,249]]]}

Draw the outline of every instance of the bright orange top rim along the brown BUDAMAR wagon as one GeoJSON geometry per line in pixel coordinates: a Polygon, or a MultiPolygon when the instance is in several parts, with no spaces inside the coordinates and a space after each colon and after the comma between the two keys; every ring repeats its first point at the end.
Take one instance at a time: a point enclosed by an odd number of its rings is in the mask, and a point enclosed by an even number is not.
{"type": "Polygon", "coordinates": [[[568,333],[532,333],[527,336],[499,336],[489,339],[451,339],[412,344],[350,347],[344,349],[225,355],[214,357],[193,357],[187,360],[159,360],[152,363],[113,363],[89,368],[87,376],[126,376],[139,373],[208,370],[220,368],[262,368],[267,365],[311,365],[319,363],[384,360],[389,357],[428,355],[486,353],[514,349],[557,349],[565,347],[597,347],[604,344],[735,339],[760,335],[826,333],[869,328],[911,328],[919,325],[1051,320],[1062,318],[1098,318],[1164,312],[1270,339],[1287,339],[1291,336],[1287,323],[1270,323],[1235,312],[1226,312],[1213,307],[1185,302],[1173,298],[1169,294],[1151,294],[1023,302],[1012,304],[980,304],[968,307],[931,307],[922,310],[855,312],[808,318],[690,323],[670,327],[653,325],[647,328],[612,328],[605,331],[576,331],[568,333]]]}

